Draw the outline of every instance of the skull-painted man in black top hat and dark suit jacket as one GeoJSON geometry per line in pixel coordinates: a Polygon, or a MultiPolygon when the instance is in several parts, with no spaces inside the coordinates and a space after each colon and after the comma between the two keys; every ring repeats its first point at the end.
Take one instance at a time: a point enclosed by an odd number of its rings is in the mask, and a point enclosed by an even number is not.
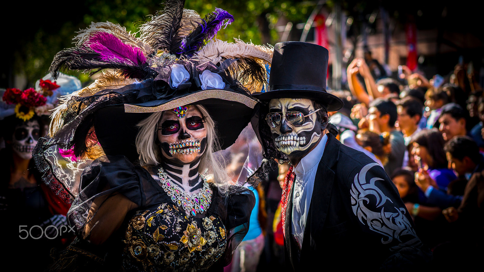
{"type": "Polygon", "coordinates": [[[274,47],[269,90],[254,130],[268,159],[290,161],[282,195],[286,263],[291,271],[408,270],[431,253],[384,169],[336,140],[327,111],[343,102],[326,91],[328,50],[274,47]],[[330,133],[328,133],[330,132],[330,133]]]}

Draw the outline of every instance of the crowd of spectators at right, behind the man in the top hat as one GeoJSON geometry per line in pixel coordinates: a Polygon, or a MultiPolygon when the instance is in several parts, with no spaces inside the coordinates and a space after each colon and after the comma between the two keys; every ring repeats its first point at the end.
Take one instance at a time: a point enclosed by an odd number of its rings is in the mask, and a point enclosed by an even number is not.
{"type": "Polygon", "coordinates": [[[349,91],[334,92],[346,110],[330,118],[342,143],[356,142],[382,163],[419,238],[446,267],[472,260],[484,238],[484,96],[466,65],[443,80],[405,65],[398,78],[375,79],[357,58],[348,65],[349,91]]]}

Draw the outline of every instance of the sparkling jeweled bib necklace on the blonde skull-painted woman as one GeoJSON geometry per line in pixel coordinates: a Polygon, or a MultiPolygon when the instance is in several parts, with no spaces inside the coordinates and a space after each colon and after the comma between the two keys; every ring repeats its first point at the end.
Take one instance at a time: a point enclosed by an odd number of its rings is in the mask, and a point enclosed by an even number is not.
{"type": "Polygon", "coordinates": [[[191,212],[193,215],[197,215],[197,212],[203,213],[207,211],[212,202],[212,193],[210,192],[209,183],[200,175],[203,181],[202,190],[195,195],[188,195],[185,191],[176,185],[172,179],[168,177],[163,167],[158,169],[158,177],[161,179],[161,187],[165,190],[166,194],[171,197],[171,201],[175,202],[183,210],[191,212]]]}

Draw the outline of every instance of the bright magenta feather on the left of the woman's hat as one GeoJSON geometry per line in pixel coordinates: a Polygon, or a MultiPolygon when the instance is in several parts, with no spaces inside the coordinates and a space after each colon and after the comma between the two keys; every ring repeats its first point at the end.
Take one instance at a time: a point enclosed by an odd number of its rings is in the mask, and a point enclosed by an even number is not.
{"type": "Polygon", "coordinates": [[[146,62],[139,48],[126,45],[118,37],[106,32],[94,33],[86,45],[99,53],[102,60],[117,59],[127,65],[142,65],[146,62]]]}

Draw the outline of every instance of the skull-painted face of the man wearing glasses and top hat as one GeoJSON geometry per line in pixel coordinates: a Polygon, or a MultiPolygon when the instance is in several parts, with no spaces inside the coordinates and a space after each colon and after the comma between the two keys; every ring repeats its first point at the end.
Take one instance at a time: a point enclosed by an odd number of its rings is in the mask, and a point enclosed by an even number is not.
{"type": "Polygon", "coordinates": [[[290,159],[303,157],[318,143],[322,132],[321,121],[317,120],[316,109],[310,99],[272,99],[269,111],[282,112],[282,120],[271,128],[272,139],[277,150],[287,154],[290,159]],[[299,111],[307,117],[300,123],[291,124],[286,120],[288,111],[299,111]]]}

